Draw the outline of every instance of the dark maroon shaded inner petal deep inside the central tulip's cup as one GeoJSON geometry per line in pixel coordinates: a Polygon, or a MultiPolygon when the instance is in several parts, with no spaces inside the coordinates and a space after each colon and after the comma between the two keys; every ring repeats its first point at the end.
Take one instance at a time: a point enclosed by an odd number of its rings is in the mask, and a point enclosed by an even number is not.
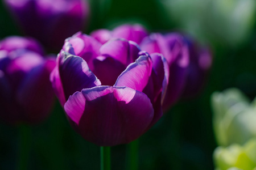
{"type": "Polygon", "coordinates": [[[93,73],[104,86],[113,86],[118,76],[126,69],[125,65],[111,57],[100,56],[93,61],[93,73]]]}

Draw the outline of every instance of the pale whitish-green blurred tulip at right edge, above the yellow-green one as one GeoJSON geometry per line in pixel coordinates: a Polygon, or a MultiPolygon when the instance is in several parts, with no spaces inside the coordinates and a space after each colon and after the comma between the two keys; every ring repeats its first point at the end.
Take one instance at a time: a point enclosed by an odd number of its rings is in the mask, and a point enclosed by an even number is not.
{"type": "Polygon", "coordinates": [[[212,95],[213,128],[217,143],[229,146],[243,145],[256,137],[256,99],[249,99],[236,88],[212,95]]]}

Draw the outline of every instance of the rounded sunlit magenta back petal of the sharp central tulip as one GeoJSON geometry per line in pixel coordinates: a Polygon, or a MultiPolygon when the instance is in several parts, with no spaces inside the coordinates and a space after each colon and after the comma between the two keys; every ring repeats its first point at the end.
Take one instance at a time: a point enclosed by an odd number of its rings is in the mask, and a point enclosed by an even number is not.
{"type": "Polygon", "coordinates": [[[139,46],[135,42],[125,39],[110,40],[102,45],[100,49],[102,56],[117,59],[125,66],[134,62],[139,57],[138,53],[140,51],[141,49],[139,49],[139,46]]]}

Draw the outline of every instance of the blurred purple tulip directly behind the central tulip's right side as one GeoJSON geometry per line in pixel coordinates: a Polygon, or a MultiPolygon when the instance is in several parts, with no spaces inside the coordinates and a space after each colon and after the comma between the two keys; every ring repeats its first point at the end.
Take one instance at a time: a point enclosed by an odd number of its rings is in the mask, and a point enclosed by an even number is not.
{"type": "Polygon", "coordinates": [[[185,87],[189,66],[187,42],[178,33],[154,33],[142,41],[141,48],[148,53],[162,53],[168,62],[170,76],[163,101],[163,108],[168,109],[180,99],[185,87]]]}

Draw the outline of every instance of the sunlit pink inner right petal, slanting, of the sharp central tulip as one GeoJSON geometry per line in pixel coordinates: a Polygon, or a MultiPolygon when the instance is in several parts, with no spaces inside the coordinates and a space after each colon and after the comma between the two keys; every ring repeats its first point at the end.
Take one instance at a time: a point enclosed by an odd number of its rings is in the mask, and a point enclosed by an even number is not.
{"type": "Polygon", "coordinates": [[[119,75],[114,86],[126,86],[142,92],[148,83],[151,71],[151,58],[148,56],[141,56],[119,75]]]}

